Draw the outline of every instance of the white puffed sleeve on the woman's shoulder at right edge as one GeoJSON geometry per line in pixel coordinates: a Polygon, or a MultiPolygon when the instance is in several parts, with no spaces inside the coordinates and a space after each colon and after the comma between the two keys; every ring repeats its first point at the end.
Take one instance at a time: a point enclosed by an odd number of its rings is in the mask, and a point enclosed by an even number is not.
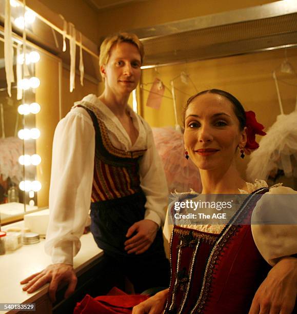
{"type": "Polygon", "coordinates": [[[296,254],[297,191],[272,187],[253,210],[251,230],[256,246],[271,266],[296,254]]]}

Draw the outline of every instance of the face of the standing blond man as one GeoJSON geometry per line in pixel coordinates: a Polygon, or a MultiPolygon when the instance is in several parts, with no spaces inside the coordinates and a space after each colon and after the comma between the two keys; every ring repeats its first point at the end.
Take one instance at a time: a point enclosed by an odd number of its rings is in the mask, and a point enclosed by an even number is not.
{"type": "Polygon", "coordinates": [[[141,74],[141,55],[130,43],[114,45],[106,65],[101,66],[105,88],[116,95],[131,93],[136,88],[141,74]]]}

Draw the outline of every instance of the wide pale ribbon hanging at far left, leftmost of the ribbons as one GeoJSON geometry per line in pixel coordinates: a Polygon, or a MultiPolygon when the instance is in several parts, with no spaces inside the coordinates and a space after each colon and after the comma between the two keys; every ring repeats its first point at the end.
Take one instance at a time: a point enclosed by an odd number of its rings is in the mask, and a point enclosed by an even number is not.
{"type": "Polygon", "coordinates": [[[7,82],[7,92],[11,97],[11,83],[14,82],[13,75],[13,46],[12,46],[12,31],[10,19],[10,1],[5,1],[5,24],[4,24],[4,60],[7,82]]]}

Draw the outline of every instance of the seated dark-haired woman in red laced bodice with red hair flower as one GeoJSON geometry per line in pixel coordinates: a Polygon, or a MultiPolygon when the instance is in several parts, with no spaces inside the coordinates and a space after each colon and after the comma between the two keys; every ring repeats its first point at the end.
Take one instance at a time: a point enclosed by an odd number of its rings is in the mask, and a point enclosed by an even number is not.
{"type": "MultiPolygon", "coordinates": [[[[225,91],[206,90],[188,100],[186,157],[200,169],[202,194],[250,195],[225,225],[174,226],[170,287],[134,307],[133,314],[293,311],[297,227],[251,225],[250,221],[252,213],[254,218],[263,208],[280,210],[268,194],[296,192],[281,186],[269,190],[265,182],[246,183],[236,170],[237,156],[244,157],[245,151],[258,146],[255,132],[263,129],[251,118],[225,91]]],[[[197,197],[181,195],[178,201],[197,197]]]]}

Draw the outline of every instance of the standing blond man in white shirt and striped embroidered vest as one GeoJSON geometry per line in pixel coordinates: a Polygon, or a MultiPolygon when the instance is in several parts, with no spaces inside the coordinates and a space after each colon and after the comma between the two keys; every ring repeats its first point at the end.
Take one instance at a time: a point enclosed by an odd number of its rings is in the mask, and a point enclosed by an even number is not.
{"type": "Polygon", "coordinates": [[[62,280],[74,291],[73,256],[91,202],[97,245],[134,284],[136,292],[169,285],[162,229],[167,185],[149,125],[128,106],[141,75],[144,49],[134,34],[120,33],[101,45],[105,90],[88,95],[57,125],[50,187],[46,251],[53,265],[22,283],[33,292],[62,280]],[[145,270],[145,271],[144,271],[145,270]]]}

